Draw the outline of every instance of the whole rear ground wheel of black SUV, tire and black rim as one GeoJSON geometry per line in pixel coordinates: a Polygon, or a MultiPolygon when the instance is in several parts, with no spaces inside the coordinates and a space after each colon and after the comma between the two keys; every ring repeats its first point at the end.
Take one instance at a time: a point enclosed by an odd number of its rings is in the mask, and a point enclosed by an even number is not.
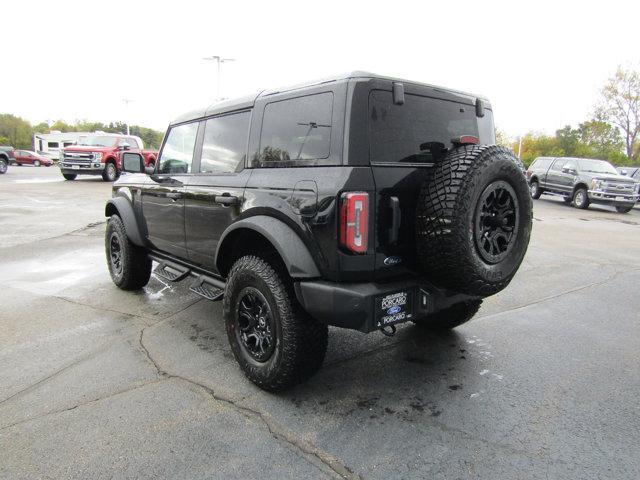
{"type": "Polygon", "coordinates": [[[242,257],[231,268],[222,306],[240,368],[272,392],[311,377],[327,350],[326,324],[300,307],[288,280],[262,258],[242,257]]]}

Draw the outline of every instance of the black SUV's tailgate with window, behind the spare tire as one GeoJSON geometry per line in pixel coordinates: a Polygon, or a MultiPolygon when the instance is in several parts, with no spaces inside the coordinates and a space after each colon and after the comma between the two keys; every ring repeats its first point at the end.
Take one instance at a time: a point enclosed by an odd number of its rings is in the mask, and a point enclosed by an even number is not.
{"type": "MultiPolygon", "coordinates": [[[[405,90],[406,91],[406,90],[405,90]]],[[[452,139],[495,143],[491,110],[476,116],[470,99],[405,93],[396,104],[389,90],[369,94],[369,157],[376,185],[376,277],[417,270],[415,215],[420,187],[452,139]]]]}

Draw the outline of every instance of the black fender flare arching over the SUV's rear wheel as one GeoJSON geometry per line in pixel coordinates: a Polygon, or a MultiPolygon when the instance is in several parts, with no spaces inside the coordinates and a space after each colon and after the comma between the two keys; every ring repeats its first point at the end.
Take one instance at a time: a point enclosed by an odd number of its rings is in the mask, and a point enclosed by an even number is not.
{"type": "Polygon", "coordinates": [[[241,229],[253,230],[265,237],[280,254],[289,275],[293,278],[317,278],[320,271],[298,234],[282,220],[267,215],[247,217],[231,224],[222,233],[216,248],[215,265],[219,267],[220,252],[225,247],[230,233],[241,229]]]}

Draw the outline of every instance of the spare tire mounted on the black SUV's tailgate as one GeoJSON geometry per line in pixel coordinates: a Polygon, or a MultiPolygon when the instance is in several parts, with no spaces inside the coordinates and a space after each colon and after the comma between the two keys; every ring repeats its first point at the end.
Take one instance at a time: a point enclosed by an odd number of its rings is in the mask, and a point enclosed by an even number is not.
{"type": "Polygon", "coordinates": [[[520,160],[496,145],[450,151],[416,209],[422,270],[437,286],[477,296],[504,289],[529,245],[532,202],[520,160]]]}

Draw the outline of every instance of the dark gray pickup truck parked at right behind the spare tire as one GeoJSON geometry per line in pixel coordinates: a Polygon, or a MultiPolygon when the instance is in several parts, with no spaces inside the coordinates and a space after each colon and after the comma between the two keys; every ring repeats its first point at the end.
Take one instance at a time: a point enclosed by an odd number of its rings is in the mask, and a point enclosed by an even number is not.
{"type": "Polygon", "coordinates": [[[560,195],[576,208],[598,203],[627,213],[640,194],[635,180],[620,175],[609,162],[588,158],[538,157],[527,170],[527,180],[532,198],[560,195]]]}

